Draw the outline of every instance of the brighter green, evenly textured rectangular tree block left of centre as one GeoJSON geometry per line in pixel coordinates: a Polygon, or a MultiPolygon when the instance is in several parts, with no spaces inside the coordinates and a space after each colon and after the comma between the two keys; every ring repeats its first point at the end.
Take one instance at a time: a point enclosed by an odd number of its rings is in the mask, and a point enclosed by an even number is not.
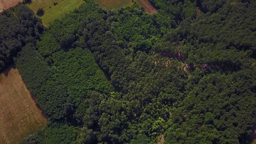
{"type": "Polygon", "coordinates": [[[92,53],[82,48],[61,50],[52,56],[71,98],[84,98],[88,90],[109,93],[112,89],[106,76],[94,62],[92,53]]]}

